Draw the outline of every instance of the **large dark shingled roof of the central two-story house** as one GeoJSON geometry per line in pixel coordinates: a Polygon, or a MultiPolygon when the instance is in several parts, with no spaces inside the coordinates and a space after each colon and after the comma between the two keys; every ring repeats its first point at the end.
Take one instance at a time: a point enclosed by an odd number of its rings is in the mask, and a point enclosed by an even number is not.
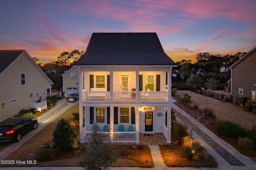
{"type": "Polygon", "coordinates": [[[155,32],[92,33],[85,54],[74,65],[176,65],[155,32]]]}

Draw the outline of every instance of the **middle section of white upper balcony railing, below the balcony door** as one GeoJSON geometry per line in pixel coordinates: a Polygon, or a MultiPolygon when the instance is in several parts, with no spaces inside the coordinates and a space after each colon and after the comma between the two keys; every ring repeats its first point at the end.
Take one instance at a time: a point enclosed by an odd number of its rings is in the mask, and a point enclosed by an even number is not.
{"type": "Polygon", "coordinates": [[[136,92],[113,91],[113,101],[136,101],[136,92]]]}

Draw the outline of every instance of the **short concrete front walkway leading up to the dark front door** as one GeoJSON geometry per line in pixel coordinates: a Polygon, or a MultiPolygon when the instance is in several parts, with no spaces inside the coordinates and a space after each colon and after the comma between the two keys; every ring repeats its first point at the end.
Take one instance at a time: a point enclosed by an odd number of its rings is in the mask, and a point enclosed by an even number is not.
{"type": "Polygon", "coordinates": [[[158,145],[148,145],[155,167],[166,167],[158,145]]]}

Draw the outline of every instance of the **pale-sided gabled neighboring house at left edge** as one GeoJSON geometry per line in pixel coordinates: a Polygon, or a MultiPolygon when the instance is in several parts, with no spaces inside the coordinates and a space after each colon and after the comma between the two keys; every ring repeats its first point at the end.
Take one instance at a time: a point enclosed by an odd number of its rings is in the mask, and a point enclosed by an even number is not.
{"type": "Polygon", "coordinates": [[[0,50],[0,82],[0,122],[21,109],[47,107],[53,82],[26,50],[0,50]]]}

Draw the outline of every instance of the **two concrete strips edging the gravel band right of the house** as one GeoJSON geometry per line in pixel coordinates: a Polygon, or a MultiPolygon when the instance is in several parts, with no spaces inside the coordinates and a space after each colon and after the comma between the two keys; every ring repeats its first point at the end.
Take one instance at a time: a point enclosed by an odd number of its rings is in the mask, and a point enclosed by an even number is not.
{"type": "MultiPolygon", "coordinates": [[[[250,167],[250,169],[256,169],[256,163],[251,158],[246,157],[246,156],[240,154],[240,152],[238,150],[236,150],[233,146],[229,145],[226,141],[223,141],[222,139],[217,137],[217,135],[215,135],[212,131],[210,131],[209,129],[205,128],[205,126],[203,124],[201,124],[198,121],[196,121],[193,117],[188,115],[185,111],[183,111],[178,106],[173,104],[172,107],[173,107],[173,109],[175,111],[178,111],[181,115],[185,116],[188,120],[190,120],[192,123],[194,123],[200,130],[202,130],[204,133],[209,135],[209,137],[211,137],[220,146],[225,148],[228,152],[230,152],[230,154],[235,156],[238,160],[240,160],[247,167],[250,167]]],[[[203,139],[201,139],[196,133],[193,134],[193,138],[195,140],[197,140],[198,142],[200,142],[201,145],[207,150],[207,152],[209,152],[209,154],[212,155],[212,157],[214,157],[217,160],[218,165],[220,167],[228,167],[228,166],[230,166],[226,162],[225,159],[223,159],[214,149],[212,149],[209,145],[207,145],[207,143],[203,139]]],[[[245,168],[243,166],[230,166],[230,167],[232,167],[232,168],[237,167],[238,169],[245,168]]]]}

